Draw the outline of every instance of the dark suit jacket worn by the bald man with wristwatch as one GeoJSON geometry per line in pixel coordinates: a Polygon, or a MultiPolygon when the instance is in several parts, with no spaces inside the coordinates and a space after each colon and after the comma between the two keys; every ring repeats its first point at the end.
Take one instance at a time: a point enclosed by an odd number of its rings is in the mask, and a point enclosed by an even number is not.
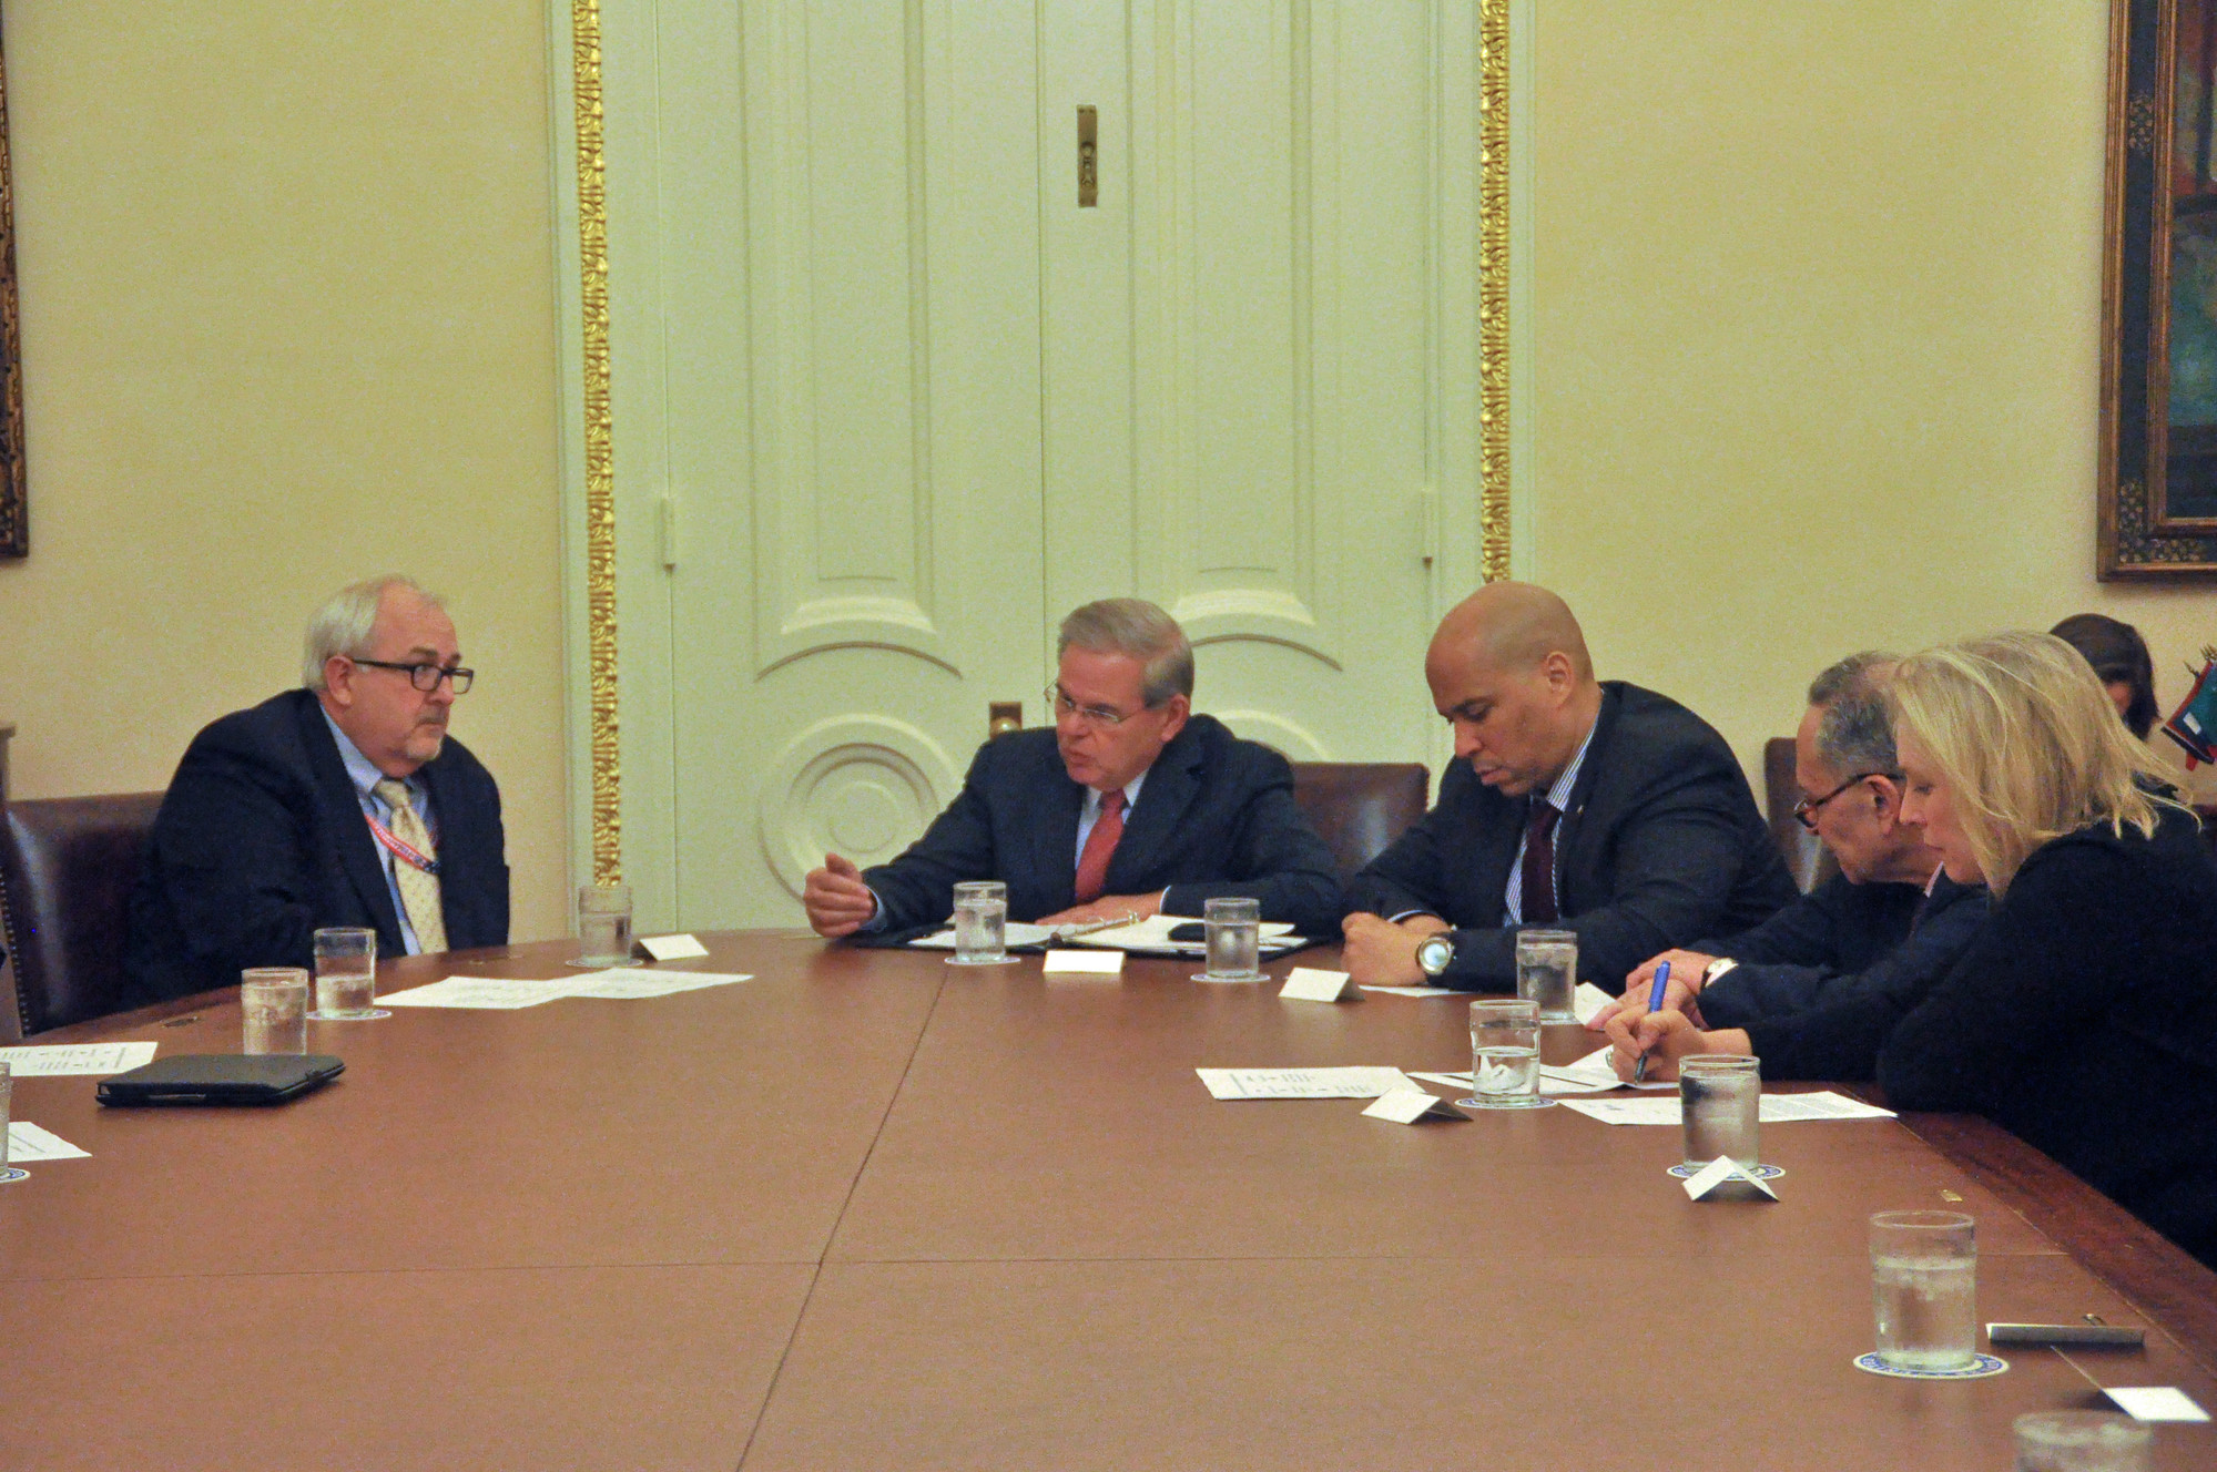
{"type": "MultiPolygon", "coordinates": [[[[1528,811],[1525,798],[1452,763],[1439,805],[1355,876],[1348,904],[1448,920],[1454,960],[1441,984],[1514,991],[1505,891],[1528,811]]],[[[1561,927],[1579,933],[1579,975],[1605,991],[1623,991],[1625,975],[1656,951],[1747,929],[1798,893],[1725,738],[1676,701],[1623,681],[1601,685],[1554,858],[1561,927]]]]}

